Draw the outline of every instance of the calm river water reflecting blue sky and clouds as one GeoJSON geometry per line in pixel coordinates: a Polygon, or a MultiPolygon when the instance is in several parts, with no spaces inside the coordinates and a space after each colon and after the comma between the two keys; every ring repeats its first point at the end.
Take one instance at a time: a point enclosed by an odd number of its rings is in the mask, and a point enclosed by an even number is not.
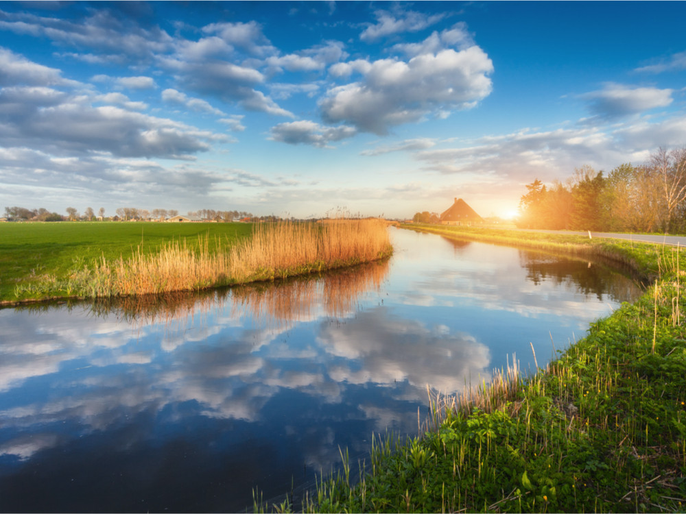
{"type": "Polygon", "coordinates": [[[539,365],[639,288],[392,229],[388,262],[168,299],[0,310],[0,510],[241,511],[413,435],[426,386],[539,365]]]}

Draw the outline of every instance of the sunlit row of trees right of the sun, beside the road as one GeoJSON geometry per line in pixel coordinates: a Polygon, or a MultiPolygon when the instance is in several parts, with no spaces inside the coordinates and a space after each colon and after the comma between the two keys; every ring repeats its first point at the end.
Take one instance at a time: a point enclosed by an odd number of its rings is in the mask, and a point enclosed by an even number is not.
{"type": "Polygon", "coordinates": [[[686,147],[660,148],[645,164],[608,175],[583,166],[564,184],[536,179],[526,188],[521,228],[686,232],[686,147]]]}

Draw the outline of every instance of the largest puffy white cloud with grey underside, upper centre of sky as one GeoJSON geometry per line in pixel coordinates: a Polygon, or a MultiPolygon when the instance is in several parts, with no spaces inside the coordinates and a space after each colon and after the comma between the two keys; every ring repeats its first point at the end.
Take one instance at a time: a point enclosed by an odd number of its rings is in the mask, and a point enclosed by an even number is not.
{"type": "MultiPolygon", "coordinates": [[[[429,114],[474,107],[490,94],[493,63],[477,46],[443,49],[404,62],[381,59],[358,82],[331,88],[319,103],[327,123],[350,123],[362,132],[384,135],[390,127],[429,114]]],[[[336,73],[343,73],[341,66],[336,73]]]]}

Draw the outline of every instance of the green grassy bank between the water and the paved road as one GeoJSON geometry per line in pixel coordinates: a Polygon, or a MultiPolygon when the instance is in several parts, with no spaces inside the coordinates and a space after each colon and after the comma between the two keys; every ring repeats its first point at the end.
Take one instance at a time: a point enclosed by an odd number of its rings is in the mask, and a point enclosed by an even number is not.
{"type": "Polygon", "coordinates": [[[502,370],[494,387],[477,385],[464,402],[432,398],[420,436],[379,437],[360,464],[366,472],[359,481],[351,480],[344,459],[344,471],[322,476],[303,510],[683,511],[686,266],[680,249],[563,234],[401,228],[602,256],[629,265],[652,285],[634,304],[591,323],[584,339],[533,376],[502,370]]]}

